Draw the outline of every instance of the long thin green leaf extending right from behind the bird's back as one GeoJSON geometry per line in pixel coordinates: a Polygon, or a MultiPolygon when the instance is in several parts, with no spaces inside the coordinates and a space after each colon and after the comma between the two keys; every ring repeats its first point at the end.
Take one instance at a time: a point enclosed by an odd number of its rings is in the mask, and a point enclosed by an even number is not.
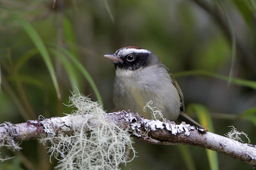
{"type": "MultiPolygon", "coordinates": [[[[189,70],[189,71],[183,71],[183,72],[174,74],[174,76],[176,78],[182,77],[182,76],[195,76],[195,75],[206,75],[206,76],[215,77],[215,78],[219,78],[219,79],[226,80],[226,81],[228,81],[228,79],[229,79],[229,77],[227,77],[227,76],[215,74],[215,73],[204,71],[204,70],[189,70]]],[[[249,80],[244,80],[244,79],[239,79],[239,78],[231,78],[230,81],[231,81],[231,83],[234,83],[234,84],[237,84],[240,86],[245,86],[245,87],[249,87],[252,89],[256,89],[256,81],[249,81],[249,80]]]]}

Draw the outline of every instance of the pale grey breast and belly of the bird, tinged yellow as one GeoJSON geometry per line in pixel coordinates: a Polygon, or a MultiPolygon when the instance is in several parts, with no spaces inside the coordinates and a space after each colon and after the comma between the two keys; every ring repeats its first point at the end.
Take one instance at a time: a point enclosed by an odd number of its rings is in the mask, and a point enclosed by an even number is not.
{"type": "Polygon", "coordinates": [[[169,120],[175,120],[180,113],[180,98],[176,88],[165,70],[154,69],[124,70],[116,69],[114,82],[114,103],[118,110],[138,112],[151,119],[151,113],[144,112],[146,102],[153,101],[157,110],[162,110],[169,120]],[[149,74],[150,73],[150,74],[149,74]]]}

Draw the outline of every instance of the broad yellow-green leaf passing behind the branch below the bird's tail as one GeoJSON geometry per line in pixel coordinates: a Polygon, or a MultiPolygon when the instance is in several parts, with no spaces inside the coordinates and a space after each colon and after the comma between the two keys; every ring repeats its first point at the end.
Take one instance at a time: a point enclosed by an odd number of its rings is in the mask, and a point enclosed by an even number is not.
{"type": "MultiPolygon", "coordinates": [[[[188,106],[188,110],[190,112],[192,112],[192,111],[196,112],[197,117],[199,118],[199,124],[204,126],[209,131],[214,132],[210,113],[205,106],[203,106],[201,104],[190,104],[188,106]]],[[[218,166],[219,161],[218,161],[217,152],[206,149],[206,153],[207,153],[207,156],[209,159],[209,164],[210,164],[211,170],[218,170],[219,169],[219,166],[218,166]]]]}

